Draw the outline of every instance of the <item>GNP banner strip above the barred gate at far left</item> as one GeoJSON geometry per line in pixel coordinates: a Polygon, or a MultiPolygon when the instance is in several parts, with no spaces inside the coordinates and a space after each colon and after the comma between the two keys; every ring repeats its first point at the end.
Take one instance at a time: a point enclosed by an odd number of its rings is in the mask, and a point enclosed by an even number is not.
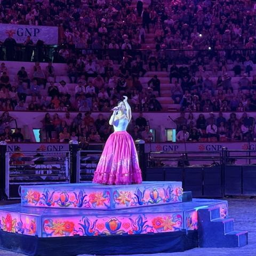
{"type": "Polygon", "coordinates": [[[7,151],[16,151],[20,147],[21,151],[69,151],[68,143],[7,143],[7,151]]]}

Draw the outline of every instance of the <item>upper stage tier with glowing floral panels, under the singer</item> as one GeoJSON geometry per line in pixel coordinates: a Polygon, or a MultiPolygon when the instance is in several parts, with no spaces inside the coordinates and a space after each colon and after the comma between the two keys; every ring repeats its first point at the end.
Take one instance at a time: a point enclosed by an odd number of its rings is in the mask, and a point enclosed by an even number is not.
{"type": "Polygon", "coordinates": [[[31,207],[116,210],[182,202],[182,182],[145,181],[133,185],[92,182],[21,186],[21,204],[31,207]]]}

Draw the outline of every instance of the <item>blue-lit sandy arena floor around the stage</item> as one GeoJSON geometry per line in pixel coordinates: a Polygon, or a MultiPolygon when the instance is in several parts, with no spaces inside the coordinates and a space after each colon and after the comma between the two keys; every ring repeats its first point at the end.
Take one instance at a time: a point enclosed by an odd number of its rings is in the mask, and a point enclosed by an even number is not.
{"type": "MultiPolygon", "coordinates": [[[[2,203],[1,203],[2,204],[2,203]]],[[[229,215],[235,219],[235,229],[249,232],[249,245],[242,248],[195,248],[186,252],[148,254],[150,256],[255,256],[256,255],[256,199],[228,199],[229,215]]],[[[1,256],[24,254],[0,250],[1,256]]],[[[135,254],[140,255],[140,254],[135,254]]],[[[145,255],[145,254],[141,254],[145,255]]],[[[86,256],[86,254],[79,255],[86,256]]]]}

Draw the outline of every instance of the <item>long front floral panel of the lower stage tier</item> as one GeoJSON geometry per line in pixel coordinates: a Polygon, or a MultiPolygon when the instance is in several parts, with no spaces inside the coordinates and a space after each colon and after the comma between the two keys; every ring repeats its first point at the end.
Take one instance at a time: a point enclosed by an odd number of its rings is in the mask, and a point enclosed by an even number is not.
{"type": "MultiPolygon", "coordinates": [[[[111,214],[110,214],[111,215],[111,214]]],[[[43,219],[43,237],[135,235],[183,229],[181,213],[127,214],[116,217],[51,217],[43,219]]]]}

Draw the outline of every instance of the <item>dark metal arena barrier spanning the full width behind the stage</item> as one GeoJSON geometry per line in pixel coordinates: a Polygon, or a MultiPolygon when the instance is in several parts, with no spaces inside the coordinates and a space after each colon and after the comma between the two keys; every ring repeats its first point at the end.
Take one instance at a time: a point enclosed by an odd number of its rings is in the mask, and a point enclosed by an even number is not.
{"type": "MultiPolygon", "coordinates": [[[[144,181],[182,181],[195,197],[256,196],[256,150],[145,154],[144,144],[135,145],[144,181]]],[[[102,149],[78,149],[73,141],[69,151],[6,153],[1,142],[0,199],[19,198],[20,185],[91,181],[102,149]]]]}

